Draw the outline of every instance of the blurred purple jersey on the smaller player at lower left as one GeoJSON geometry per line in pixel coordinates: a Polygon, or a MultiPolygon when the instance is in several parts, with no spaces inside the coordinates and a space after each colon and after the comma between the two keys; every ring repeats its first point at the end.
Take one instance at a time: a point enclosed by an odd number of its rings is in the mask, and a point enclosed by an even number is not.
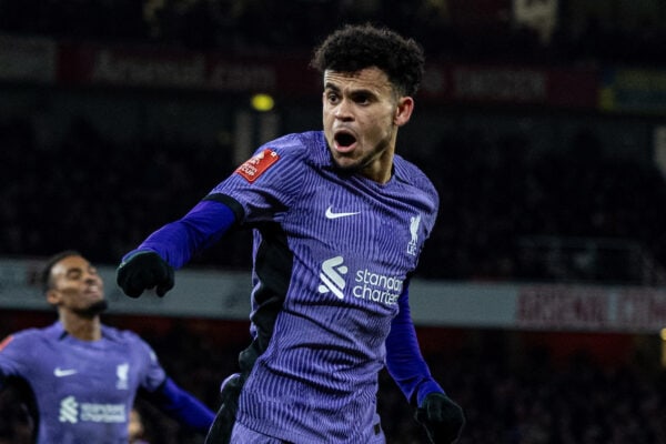
{"type": "Polygon", "coordinates": [[[137,334],[102,326],[101,340],[80,341],[60,322],[6,339],[0,372],[32,389],[40,444],[127,443],[137,390],[152,392],[167,377],[137,334]]]}

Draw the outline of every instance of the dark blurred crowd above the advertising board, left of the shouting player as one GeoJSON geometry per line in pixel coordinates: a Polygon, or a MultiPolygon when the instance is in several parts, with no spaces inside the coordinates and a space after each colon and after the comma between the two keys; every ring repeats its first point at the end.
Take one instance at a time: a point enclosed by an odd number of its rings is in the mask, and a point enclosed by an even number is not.
{"type": "MultiPolygon", "coordinates": [[[[44,255],[70,245],[92,261],[115,263],[149,231],[183,215],[231,168],[224,150],[189,149],[175,140],[115,144],[84,119],[47,145],[36,142],[29,119],[10,119],[0,122],[0,140],[6,255],[44,255]]],[[[220,265],[248,264],[248,251],[225,251],[220,265]]]]}

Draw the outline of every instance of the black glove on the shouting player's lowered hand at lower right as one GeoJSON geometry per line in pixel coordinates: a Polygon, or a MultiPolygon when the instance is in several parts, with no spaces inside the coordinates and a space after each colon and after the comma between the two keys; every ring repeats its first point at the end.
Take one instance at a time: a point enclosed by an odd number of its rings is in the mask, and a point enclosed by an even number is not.
{"type": "Polygon", "coordinates": [[[461,434],[465,416],[460,405],[443,393],[425,396],[415,414],[433,444],[451,444],[461,434]]]}

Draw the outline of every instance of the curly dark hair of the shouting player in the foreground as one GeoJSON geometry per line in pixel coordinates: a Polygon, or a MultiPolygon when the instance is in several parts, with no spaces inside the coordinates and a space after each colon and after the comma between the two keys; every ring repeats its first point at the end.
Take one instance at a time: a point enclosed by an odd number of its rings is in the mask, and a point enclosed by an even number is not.
{"type": "Polygon", "coordinates": [[[423,48],[416,41],[371,23],[346,24],[334,31],[314,50],[310,62],[320,72],[377,67],[402,95],[416,93],[424,64],[423,48]]]}

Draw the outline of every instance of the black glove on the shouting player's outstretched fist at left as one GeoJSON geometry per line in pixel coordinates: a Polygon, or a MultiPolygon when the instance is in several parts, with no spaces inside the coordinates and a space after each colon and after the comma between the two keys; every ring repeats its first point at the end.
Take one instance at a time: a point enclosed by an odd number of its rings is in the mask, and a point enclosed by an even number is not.
{"type": "Polygon", "coordinates": [[[130,297],[139,297],[152,287],[162,297],[173,289],[173,269],[158,253],[140,251],[120,264],[115,282],[130,297]]]}

